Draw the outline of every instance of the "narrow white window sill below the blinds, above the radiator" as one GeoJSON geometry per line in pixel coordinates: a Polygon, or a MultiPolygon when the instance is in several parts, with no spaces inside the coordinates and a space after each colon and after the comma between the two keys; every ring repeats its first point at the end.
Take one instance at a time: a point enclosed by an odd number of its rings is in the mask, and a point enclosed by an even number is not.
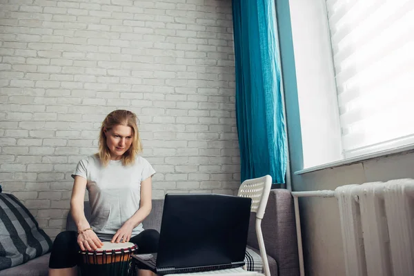
{"type": "Polygon", "coordinates": [[[390,155],[397,155],[397,154],[400,154],[400,153],[403,153],[403,152],[406,153],[406,152],[411,152],[411,151],[414,151],[414,144],[411,144],[411,145],[408,145],[408,146],[401,146],[401,147],[398,147],[398,148],[392,148],[392,149],[389,149],[389,150],[382,150],[382,151],[379,151],[379,152],[370,153],[368,155],[361,155],[361,156],[358,156],[358,157],[338,160],[338,161],[334,161],[334,162],[331,162],[331,163],[322,164],[322,165],[319,165],[319,166],[313,166],[311,168],[305,168],[303,170],[297,170],[295,172],[295,175],[303,175],[303,174],[308,173],[308,172],[315,172],[317,170],[324,170],[325,168],[336,168],[336,167],[340,167],[340,166],[348,166],[348,165],[360,163],[361,161],[377,159],[377,158],[381,158],[381,157],[387,157],[387,156],[390,156],[390,155]]]}

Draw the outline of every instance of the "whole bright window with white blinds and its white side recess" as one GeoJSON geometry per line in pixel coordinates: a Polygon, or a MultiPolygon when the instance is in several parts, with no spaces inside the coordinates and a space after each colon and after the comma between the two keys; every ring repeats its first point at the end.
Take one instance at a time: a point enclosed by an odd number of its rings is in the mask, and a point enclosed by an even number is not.
{"type": "Polygon", "coordinates": [[[414,1],[290,0],[289,10],[297,173],[413,149],[414,1]]]}

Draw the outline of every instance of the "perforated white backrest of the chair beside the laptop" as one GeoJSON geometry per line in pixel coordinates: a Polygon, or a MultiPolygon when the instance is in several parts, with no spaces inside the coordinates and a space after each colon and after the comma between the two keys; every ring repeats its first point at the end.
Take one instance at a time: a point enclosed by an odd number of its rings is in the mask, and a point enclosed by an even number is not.
{"type": "Polygon", "coordinates": [[[269,198],[272,177],[266,175],[255,179],[243,181],[239,188],[239,197],[250,197],[252,199],[251,211],[256,213],[258,219],[263,219],[264,210],[269,198]]]}

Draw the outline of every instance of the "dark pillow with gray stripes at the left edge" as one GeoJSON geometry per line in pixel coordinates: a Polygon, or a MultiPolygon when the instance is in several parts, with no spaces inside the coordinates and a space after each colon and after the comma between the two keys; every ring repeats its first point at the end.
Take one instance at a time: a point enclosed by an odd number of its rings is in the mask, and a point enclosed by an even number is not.
{"type": "Polygon", "coordinates": [[[0,270],[48,253],[52,241],[14,195],[0,193],[0,270]]]}

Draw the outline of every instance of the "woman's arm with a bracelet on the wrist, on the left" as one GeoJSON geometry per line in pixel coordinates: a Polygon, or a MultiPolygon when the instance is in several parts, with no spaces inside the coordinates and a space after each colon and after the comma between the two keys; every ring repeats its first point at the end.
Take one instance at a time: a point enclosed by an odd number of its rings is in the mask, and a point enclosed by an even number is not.
{"type": "MultiPolygon", "coordinates": [[[[75,221],[78,231],[90,228],[89,222],[85,217],[83,210],[83,201],[85,199],[86,179],[75,176],[75,183],[72,188],[72,197],[70,198],[70,215],[75,221]]],[[[78,232],[79,233],[79,232],[78,232]]],[[[78,235],[77,242],[81,250],[96,250],[103,245],[101,240],[92,230],[86,230],[78,235]]]]}

